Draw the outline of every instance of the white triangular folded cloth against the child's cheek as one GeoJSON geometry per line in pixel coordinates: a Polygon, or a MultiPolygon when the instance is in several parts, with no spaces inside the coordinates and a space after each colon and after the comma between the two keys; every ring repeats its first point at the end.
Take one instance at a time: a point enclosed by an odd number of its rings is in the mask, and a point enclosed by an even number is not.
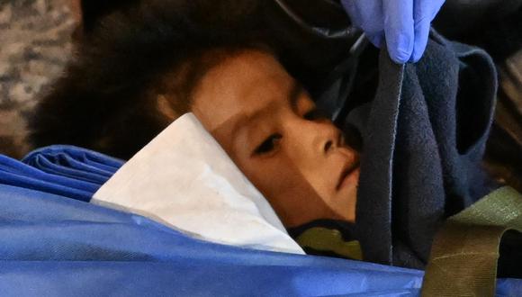
{"type": "Polygon", "coordinates": [[[130,158],[91,202],[211,242],[304,254],[265,197],[193,113],[178,118],[130,158]]]}

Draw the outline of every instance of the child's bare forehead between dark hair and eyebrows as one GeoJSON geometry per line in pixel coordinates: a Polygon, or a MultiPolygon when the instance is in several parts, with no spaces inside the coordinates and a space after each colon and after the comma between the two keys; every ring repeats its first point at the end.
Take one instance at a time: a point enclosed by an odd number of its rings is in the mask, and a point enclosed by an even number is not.
{"type": "Polygon", "coordinates": [[[233,118],[276,109],[288,101],[294,86],[274,57],[247,51],[227,58],[202,77],[193,93],[193,111],[208,130],[214,130],[233,118]]]}

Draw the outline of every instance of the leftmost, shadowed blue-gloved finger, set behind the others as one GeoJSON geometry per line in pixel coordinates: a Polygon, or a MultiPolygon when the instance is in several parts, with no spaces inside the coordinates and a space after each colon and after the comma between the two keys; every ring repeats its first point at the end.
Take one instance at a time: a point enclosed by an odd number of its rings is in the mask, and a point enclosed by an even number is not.
{"type": "Polygon", "coordinates": [[[368,39],[380,47],[383,40],[382,0],[342,0],[352,24],[365,31],[368,39]]]}

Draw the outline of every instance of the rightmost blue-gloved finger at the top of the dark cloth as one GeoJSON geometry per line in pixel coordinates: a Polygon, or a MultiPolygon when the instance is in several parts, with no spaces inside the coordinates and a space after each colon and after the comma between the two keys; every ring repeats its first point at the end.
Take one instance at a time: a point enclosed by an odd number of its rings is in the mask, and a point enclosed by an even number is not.
{"type": "Polygon", "coordinates": [[[413,7],[414,44],[410,62],[417,62],[422,57],[428,44],[429,28],[444,0],[415,0],[413,7]]]}

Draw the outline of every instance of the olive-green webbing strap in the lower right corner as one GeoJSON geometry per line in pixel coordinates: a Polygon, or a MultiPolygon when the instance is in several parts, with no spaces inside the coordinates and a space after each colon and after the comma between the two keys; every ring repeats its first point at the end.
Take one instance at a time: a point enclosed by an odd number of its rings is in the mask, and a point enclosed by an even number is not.
{"type": "Polygon", "coordinates": [[[522,231],[522,194],[510,187],[446,220],[431,248],[422,296],[494,296],[500,239],[509,229],[522,231]]]}

